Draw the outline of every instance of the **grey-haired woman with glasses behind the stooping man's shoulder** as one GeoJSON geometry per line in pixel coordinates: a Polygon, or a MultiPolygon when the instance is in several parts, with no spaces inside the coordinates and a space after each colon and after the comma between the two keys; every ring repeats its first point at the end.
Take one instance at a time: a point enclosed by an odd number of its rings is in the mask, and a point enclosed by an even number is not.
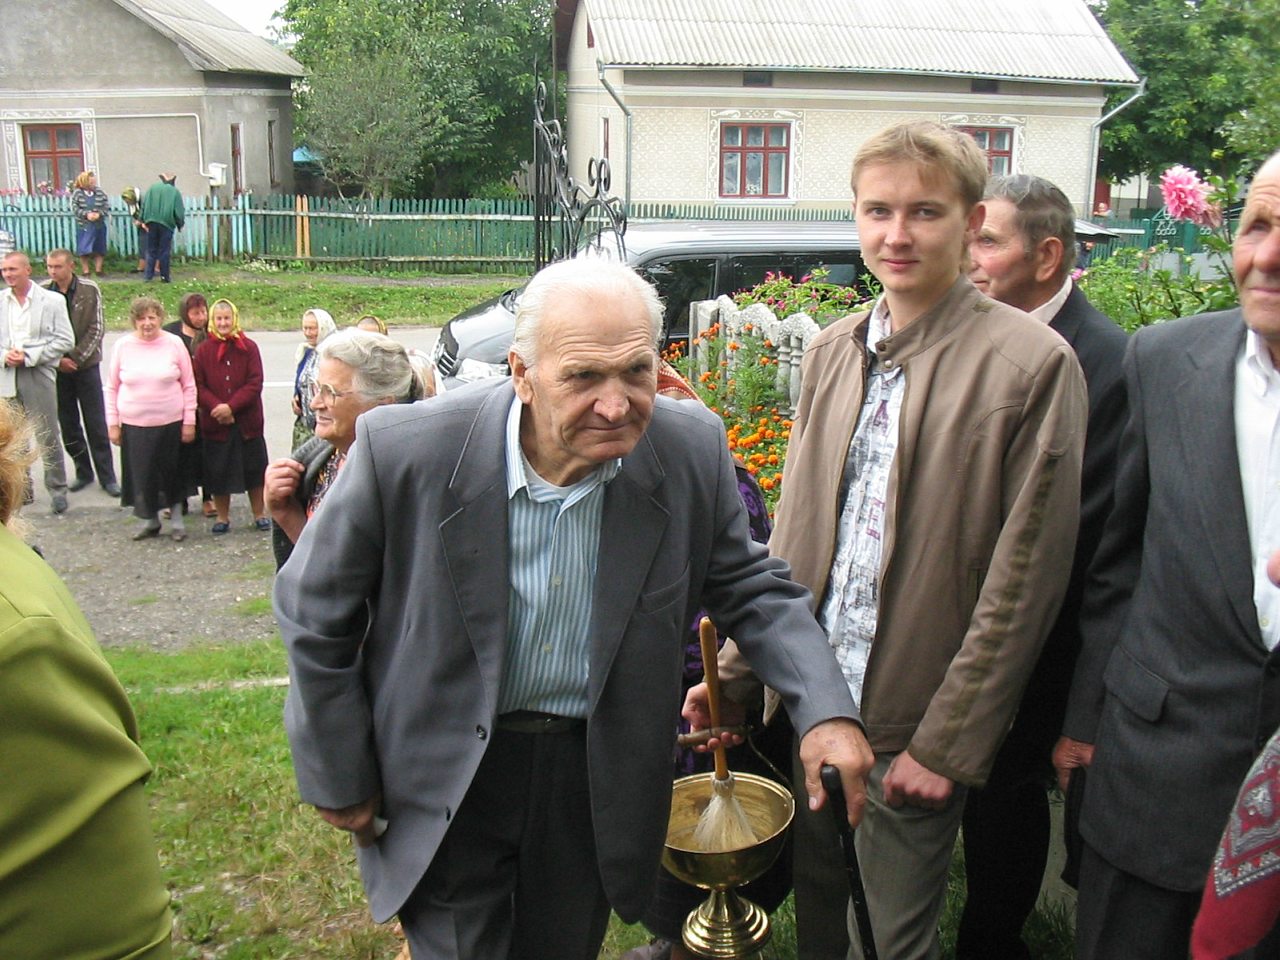
{"type": "Polygon", "coordinates": [[[404,348],[387,337],[347,329],[316,347],[311,383],[315,436],[287,460],[266,468],[266,508],[275,521],[276,566],[293,552],[325,493],[333,486],[356,439],[356,419],[384,403],[411,403],[422,396],[404,348]]]}

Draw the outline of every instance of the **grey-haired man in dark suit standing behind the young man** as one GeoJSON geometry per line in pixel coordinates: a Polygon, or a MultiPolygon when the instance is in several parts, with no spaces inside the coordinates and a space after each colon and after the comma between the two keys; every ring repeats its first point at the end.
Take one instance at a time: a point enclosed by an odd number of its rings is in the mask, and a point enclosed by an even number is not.
{"type": "Polygon", "coordinates": [[[969,279],[988,297],[1025,310],[1061,334],[1080,361],[1089,392],[1071,580],[991,777],[969,792],[963,820],[969,892],[956,956],[1020,960],[1030,957],[1023,924],[1036,906],[1048,859],[1050,753],[1062,730],[1080,649],[1084,575],[1111,512],[1126,338],[1071,280],[1075,211],[1061,189],[1039,177],[998,177],[987,184],[983,206],[982,229],[969,244],[969,279]]]}

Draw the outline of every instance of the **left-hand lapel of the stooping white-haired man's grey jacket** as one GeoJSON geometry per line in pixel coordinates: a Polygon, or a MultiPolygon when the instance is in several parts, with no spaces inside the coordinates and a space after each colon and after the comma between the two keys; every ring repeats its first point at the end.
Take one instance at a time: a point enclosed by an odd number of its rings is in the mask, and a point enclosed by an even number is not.
{"type": "Polygon", "coordinates": [[[500,387],[485,399],[449,480],[457,509],[440,524],[449,577],[490,704],[498,703],[507,648],[511,591],[507,531],[507,413],[515,393],[500,387]]]}

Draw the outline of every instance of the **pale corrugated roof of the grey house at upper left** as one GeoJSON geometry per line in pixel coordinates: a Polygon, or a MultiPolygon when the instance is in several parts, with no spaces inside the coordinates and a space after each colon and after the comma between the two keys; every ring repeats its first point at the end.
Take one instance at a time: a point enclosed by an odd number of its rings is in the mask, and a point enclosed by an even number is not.
{"type": "Polygon", "coordinates": [[[301,77],[306,68],[205,0],[115,0],[169,37],[197,70],[301,77]]]}

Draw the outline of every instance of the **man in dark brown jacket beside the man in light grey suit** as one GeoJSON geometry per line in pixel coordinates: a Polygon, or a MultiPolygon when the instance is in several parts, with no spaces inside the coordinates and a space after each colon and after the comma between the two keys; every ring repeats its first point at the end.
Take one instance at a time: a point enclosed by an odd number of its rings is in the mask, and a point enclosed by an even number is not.
{"type": "Polygon", "coordinates": [[[51,250],[45,255],[49,271],[46,289],[67,300],[74,346],[58,361],[58,424],[63,447],[76,463],[76,479],[69,490],[83,490],[97,481],[111,497],[120,495],[115,483],[111,443],[106,438],[106,410],[102,404],[102,292],[92,280],[76,276],[76,264],[69,250],[51,250]],[[84,425],[81,429],[81,419],[84,425]]]}

